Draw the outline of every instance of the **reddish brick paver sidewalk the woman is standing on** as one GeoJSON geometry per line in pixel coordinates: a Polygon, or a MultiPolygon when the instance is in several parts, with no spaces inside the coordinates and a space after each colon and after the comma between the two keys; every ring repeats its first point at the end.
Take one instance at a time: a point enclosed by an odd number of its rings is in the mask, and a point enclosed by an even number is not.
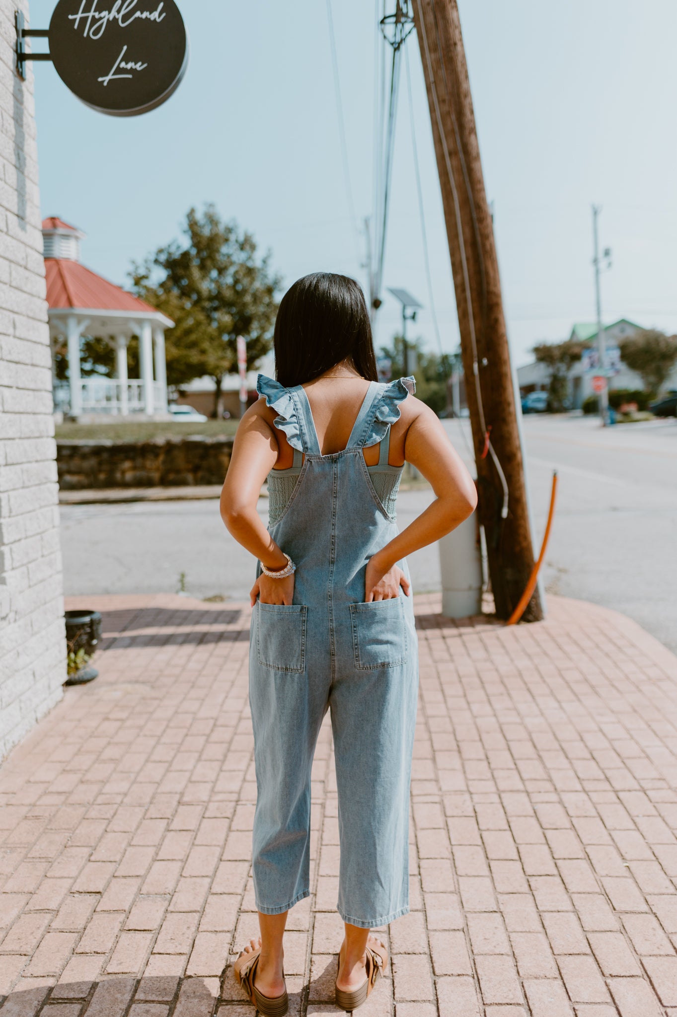
{"type": "MultiPolygon", "coordinates": [[[[677,1015],[677,659],[550,598],[541,624],[459,625],[416,601],[412,913],[385,1017],[677,1015]]],[[[70,606],[85,606],[80,599],[70,606]]],[[[93,597],[101,676],[0,771],[2,1017],[253,1017],[249,609],[93,597]]],[[[290,914],[292,1014],[333,1011],[338,865],[329,728],[310,899],[290,914]]]]}

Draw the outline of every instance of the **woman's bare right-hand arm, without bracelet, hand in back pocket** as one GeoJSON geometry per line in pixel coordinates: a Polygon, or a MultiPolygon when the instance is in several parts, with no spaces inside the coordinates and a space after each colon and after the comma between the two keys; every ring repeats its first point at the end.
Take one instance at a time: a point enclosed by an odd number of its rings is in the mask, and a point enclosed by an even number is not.
{"type": "Polygon", "coordinates": [[[475,482],[437,416],[419,400],[412,399],[408,409],[415,415],[407,431],[405,455],[430,483],[435,500],[370,558],[365,577],[366,600],[396,596],[394,589],[399,586],[394,575],[399,572],[396,562],[455,529],[477,505],[475,482]]]}

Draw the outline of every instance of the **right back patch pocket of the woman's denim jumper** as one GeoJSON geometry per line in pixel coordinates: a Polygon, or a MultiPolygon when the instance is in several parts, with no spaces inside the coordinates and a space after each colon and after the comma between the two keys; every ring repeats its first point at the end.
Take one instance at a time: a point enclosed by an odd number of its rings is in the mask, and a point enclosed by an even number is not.
{"type": "Polygon", "coordinates": [[[353,650],[359,671],[407,663],[407,625],[402,597],[351,604],[353,650]]]}

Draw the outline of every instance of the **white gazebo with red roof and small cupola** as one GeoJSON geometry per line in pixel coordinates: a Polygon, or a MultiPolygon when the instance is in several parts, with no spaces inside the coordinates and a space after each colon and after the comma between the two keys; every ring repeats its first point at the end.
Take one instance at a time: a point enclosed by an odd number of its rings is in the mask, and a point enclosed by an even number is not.
{"type": "Polygon", "coordinates": [[[68,347],[68,383],[54,379],[54,408],[75,419],[94,414],[165,415],[165,330],[174,322],[150,304],[80,264],[84,236],[56,216],[43,222],[47,303],[52,349],[68,347]],[[82,336],[115,349],[116,377],[81,377],[82,336]],[[127,377],[127,346],[138,336],[140,379],[127,377]]]}

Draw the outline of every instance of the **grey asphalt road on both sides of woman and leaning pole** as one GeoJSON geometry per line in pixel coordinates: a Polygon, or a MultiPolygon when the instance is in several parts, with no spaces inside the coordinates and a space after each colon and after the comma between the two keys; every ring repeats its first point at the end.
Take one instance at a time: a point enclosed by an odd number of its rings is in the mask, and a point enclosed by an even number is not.
{"type": "MultiPolygon", "coordinates": [[[[524,423],[538,541],[559,473],[546,591],[623,611],[677,652],[677,422],[602,430],[596,419],[534,415],[524,423]]],[[[468,458],[467,424],[446,426],[468,458]]],[[[403,491],[401,527],[430,499],[425,489],[403,491]]],[[[266,499],[259,511],[265,517],[266,499]]],[[[253,582],[253,561],[213,500],[63,505],[61,520],[67,594],[184,588],[242,599],[253,582]]],[[[439,589],[436,547],[410,567],[417,591],[439,589]]]]}

